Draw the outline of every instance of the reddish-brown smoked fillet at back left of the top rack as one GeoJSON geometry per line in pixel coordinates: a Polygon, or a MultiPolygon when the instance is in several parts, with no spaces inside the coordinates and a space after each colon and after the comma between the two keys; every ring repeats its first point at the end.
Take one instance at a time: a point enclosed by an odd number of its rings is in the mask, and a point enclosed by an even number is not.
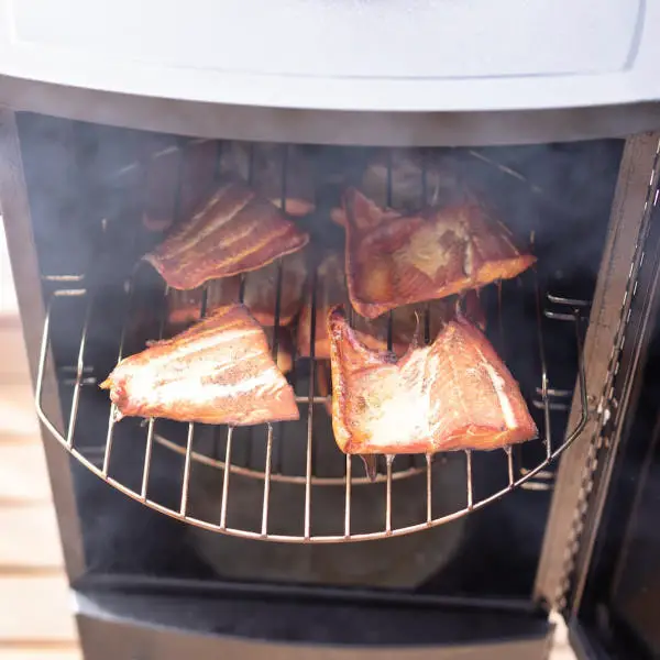
{"type": "Polygon", "coordinates": [[[309,234],[239,179],[228,179],[143,258],[176,289],[256,271],[304,248],[309,234]]]}

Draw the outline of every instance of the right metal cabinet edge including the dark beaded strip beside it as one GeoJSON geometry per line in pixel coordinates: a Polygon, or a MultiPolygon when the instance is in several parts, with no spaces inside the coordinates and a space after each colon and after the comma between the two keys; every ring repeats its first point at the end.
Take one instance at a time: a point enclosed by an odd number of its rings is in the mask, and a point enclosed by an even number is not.
{"type": "MultiPolygon", "coordinates": [[[[657,271],[659,256],[645,261],[657,201],[659,150],[659,133],[626,142],[583,352],[590,418],[563,454],[546,527],[535,597],[569,617],[580,605],[617,438],[630,403],[629,381],[645,346],[652,292],[640,286],[640,277],[657,271]],[[639,310],[646,319],[641,333],[636,322],[639,310]],[[623,361],[624,346],[634,353],[632,360],[623,361]]],[[[579,410],[575,400],[571,418],[579,410]]]]}

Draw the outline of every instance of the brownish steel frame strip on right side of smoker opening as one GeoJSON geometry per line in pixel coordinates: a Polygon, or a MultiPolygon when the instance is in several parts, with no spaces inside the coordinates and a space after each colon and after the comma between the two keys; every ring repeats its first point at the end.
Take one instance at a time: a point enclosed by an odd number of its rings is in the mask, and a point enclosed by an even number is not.
{"type": "MultiPolygon", "coordinates": [[[[535,583],[535,597],[553,607],[566,605],[564,596],[580,549],[591,479],[597,466],[596,446],[603,424],[612,415],[610,388],[605,385],[604,391],[604,384],[612,381],[617,351],[625,340],[622,330],[628,319],[628,296],[641,265],[640,239],[658,184],[659,144],[660,133],[632,136],[622,158],[583,353],[591,415],[560,463],[535,583]]],[[[580,414],[580,402],[574,397],[569,428],[580,414]]]]}

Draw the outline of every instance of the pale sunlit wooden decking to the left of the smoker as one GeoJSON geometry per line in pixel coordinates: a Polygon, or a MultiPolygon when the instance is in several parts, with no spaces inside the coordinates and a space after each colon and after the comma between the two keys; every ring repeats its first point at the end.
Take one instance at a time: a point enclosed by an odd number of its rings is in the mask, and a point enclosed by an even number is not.
{"type": "Polygon", "coordinates": [[[81,660],[0,218],[0,660],[81,660]]]}

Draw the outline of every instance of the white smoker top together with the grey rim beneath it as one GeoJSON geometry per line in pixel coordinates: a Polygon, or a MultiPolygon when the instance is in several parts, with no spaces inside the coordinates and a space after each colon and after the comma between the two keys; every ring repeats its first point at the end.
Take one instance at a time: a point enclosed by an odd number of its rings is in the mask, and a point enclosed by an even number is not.
{"type": "Polygon", "coordinates": [[[568,0],[197,0],[185,20],[174,2],[150,0],[139,15],[130,7],[6,0],[0,101],[182,135],[315,144],[483,146],[658,125],[654,1],[620,0],[597,18],[568,0]]]}

